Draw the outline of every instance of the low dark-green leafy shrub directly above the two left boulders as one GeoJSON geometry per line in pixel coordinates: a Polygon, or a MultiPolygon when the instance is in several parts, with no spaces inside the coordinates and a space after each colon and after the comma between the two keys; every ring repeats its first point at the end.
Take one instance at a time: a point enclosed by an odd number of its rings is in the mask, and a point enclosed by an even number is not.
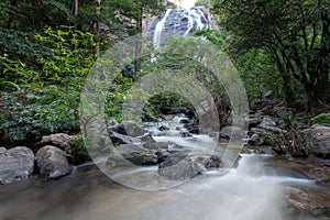
{"type": "Polygon", "coordinates": [[[15,102],[2,111],[0,131],[3,143],[32,143],[44,134],[73,133],[79,128],[74,110],[64,100],[47,106],[15,102]]]}

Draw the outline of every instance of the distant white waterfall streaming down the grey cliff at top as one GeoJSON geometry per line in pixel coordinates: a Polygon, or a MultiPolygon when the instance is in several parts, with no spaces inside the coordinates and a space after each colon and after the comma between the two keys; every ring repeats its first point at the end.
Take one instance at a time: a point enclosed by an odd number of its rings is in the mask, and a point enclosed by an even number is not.
{"type": "Polygon", "coordinates": [[[150,38],[157,48],[164,47],[170,36],[189,36],[197,30],[209,28],[208,16],[200,8],[167,9],[163,19],[153,22],[148,30],[150,38]]]}

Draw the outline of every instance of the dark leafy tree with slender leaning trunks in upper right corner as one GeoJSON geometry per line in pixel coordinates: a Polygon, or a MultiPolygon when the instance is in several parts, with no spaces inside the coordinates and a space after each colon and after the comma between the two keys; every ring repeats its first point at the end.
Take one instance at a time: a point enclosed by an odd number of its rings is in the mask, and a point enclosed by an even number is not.
{"type": "Polygon", "coordinates": [[[305,88],[308,110],[330,101],[329,0],[215,0],[212,10],[231,34],[232,54],[260,48],[272,57],[287,103],[293,78],[305,88]]]}

